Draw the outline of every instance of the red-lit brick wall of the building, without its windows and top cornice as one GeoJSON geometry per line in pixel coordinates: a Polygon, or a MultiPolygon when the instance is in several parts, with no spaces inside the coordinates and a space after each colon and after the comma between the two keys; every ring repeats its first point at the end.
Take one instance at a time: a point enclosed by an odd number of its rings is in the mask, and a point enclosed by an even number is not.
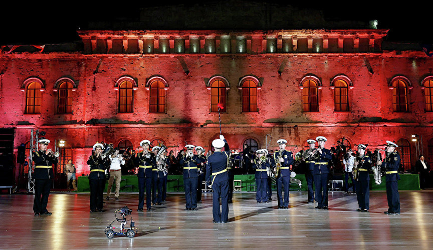
{"type": "MultiPolygon", "coordinates": [[[[168,146],[187,143],[209,148],[219,134],[218,113],[210,112],[209,78],[225,77],[227,112],[221,114],[223,134],[233,148],[253,138],[265,147],[266,134],[272,135],[271,148],[278,138],[290,145],[304,144],[308,138],[326,136],[327,147],[346,136],[354,143],[375,147],[385,140],[420,134],[427,151],[433,137],[433,113],[424,111],[421,80],[432,74],[432,59],[415,51],[381,53],[262,53],[262,54],[85,54],[11,53],[0,55],[3,70],[0,106],[3,127],[15,127],[15,145],[30,139],[30,129],[40,128],[49,139],[65,139],[73,148],[78,174],[88,173],[86,164],[95,141],[115,145],[129,139],[134,147],[142,139],[161,138],[168,146]],[[373,74],[366,66],[365,57],[373,74]],[[98,64],[100,64],[98,66],[98,64]],[[190,72],[185,75],[185,70],[190,72]],[[282,69],[281,75],[277,72],[282,69]],[[349,112],[334,111],[331,80],[344,74],[353,82],[349,89],[349,112]],[[134,112],[118,113],[116,81],[124,75],[136,79],[134,112]],[[149,77],[158,75],[168,83],[165,113],[149,113],[149,77]],[[246,75],[257,77],[258,112],[242,112],[239,81],[246,75]],[[322,82],[319,112],[303,112],[302,89],[306,75],[322,82]],[[409,112],[392,111],[389,81],[396,75],[407,77],[409,112]],[[25,114],[23,82],[36,76],[45,84],[41,114],[25,114]],[[73,92],[73,114],[57,113],[58,93],[54,83],[70,77],[77,84],[73,92]]],[[[293,146],[289,146],[293,149],[293,146]]],[[[412,163],[415,161],[411,144],[412,163]]],[[[433,157],[433,155],[430,155],[433,157]]]]}

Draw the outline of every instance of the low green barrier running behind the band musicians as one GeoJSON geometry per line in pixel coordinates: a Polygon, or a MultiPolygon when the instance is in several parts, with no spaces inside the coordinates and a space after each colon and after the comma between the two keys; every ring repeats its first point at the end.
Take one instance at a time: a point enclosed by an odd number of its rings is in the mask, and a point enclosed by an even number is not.
{"type": "MultiPolygon", "coordinates": [[[[336,176],[341,179],[340,176],[336,176]]],[[[344,178],[344,176],[343,176],[344,178]]],[[[418,174],[400,174],[400,180],[398,181],[398,190],[420,190],[419,187],[419,175],[418,174]]],[[[123,175],[122,181],[120,181],[121,192],[138,192],[138,178],[135,175],[123,175]]],[[[167,178],[167,191],[168,192],[183,192],[183,176],[182,175],[168,175],[167,178]]],[[[307,180],[305,174],[297,174],[295,179],[301,180],[301,190],[307,190],[307,180]]],[[[241,180],[242,191],[254,191],[256,185],[256,179],[254,174],[237,174],[234,180],[241,180]]],[[[350,178],[349,178],[350,182],[350,178]]],[[[105,184],[107,189],[108,180],[105,184]]],[[[370,190],[386,190],[385,187],[385,176],[382,177],[382,183],[376,185],[374,182],[373,174],[370,174],[370,190]]],[[[89,179],[87,176],[79,176],[77,178],[77,187],[79,192],[90,192],[89,179]]],[[[341,184],[337,184],[336,187],[341,187],[341,184]]],[[[114,192],[115,183],[113,183],[112,190],[114,192]]],[[[272,189],[276,190],[275,184],[272,185],[272,189]]],[[[298,190],[296,184],[290,185],[291,190],[298,190]]]]}

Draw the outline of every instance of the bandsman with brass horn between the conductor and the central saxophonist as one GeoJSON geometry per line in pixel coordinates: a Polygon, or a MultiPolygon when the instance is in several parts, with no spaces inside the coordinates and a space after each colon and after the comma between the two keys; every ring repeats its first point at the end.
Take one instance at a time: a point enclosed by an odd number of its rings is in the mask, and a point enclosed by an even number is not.
{"type": "Polygon", "coordinates": [[[268,187],[268,172],[267,170],[271,167],[269,162],[266,160],[266,156],[268,154],[268,150],[266,149],[259,149],[256,151],[257,158],[254,160],[251,160],[251,163],[253,163],[252,167],[253,169],[256,169],[256,200],[257,203],[261,202],[268,202],[268,194],[267,194],[267,187],[268,187]]]}

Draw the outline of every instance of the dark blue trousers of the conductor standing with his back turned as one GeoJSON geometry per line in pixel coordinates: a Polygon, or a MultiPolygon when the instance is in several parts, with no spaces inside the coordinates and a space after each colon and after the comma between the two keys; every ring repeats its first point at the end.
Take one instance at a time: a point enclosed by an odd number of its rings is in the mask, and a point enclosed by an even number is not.
{"type": "Polygon", "coordinates": [[[212,214],[214,221],[229,220],[229,180],[212,184],[212,214]],[[220,210],[221,198],[221,210],[220,210]]]}

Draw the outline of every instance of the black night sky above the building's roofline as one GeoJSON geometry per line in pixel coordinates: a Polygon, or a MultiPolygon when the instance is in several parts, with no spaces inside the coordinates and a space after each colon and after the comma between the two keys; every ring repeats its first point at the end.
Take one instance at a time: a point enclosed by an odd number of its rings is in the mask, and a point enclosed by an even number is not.
{"type": "MultiPolygon", "coordinates": [[[[191,0],[184,4],[205,2],[206,0],[191,0]]],[[[35,2],[35,1],[34,1],[35,2]]],[[[79,40],[76,33],[78,28],[86,29],[89,21],[110,20],[139,20],[139,8],[145,6],[159,6],[163,4],[178,4],[180,1],[164,0],[160,4],[128,3],[112,5],[102,1],[99,5],[86,2],[73,2],[70,6],[58,6],[47,2],[42,4],[17,4],[14,8],[3,8],[0,13],[2,23],[1,45],[9,44],[44,44],[70,42],[79,40]]],[[[144,2],[144,1],[141,1],[144,2]]],[[[268,2],[280,2],[268,0],[268,2]]],[[[410,1],[396,5],[391,3],[375,3],[374,1],[351,1],[358,6],[348,7],[349,1],[321,1],[317,4],[305,4],[311,1],[284,1],[299,8],[313,8],[322,10],[325,18],[333,20],[378,20],[378,28],[390,29],[386,40],[401,42],[433,42],[431,4],[420,4],[410,1]],[[301,2],[301,3],[300,3],[301,2]]],[[[379,2],[379,1],[377,1],[379,2]]],[[[5,6],[3,6],[5,7],[5,6]]]]}

